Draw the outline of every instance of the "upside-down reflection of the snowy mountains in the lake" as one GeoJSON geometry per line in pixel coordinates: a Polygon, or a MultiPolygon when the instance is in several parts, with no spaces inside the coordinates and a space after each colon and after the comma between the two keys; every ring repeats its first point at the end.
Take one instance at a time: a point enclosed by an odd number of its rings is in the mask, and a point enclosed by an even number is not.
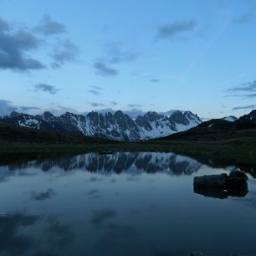
{"type": "Polygon", "coordinates": [[[9,170],[37,167],[44,172],[54,167],[64,171],[84,170],[88,172],[134,172],[131,168],[143,172],[168,172],[175,175],[190,175],[197,172],[201,164],[187,156],[173,153],[155,152],[117,152],[100,155],[90,153],[79,156],[65,156],[38,161],[27,161],[8,165],[9,170]],[[130,169],[130,170],[129,170],[130,169]]]}

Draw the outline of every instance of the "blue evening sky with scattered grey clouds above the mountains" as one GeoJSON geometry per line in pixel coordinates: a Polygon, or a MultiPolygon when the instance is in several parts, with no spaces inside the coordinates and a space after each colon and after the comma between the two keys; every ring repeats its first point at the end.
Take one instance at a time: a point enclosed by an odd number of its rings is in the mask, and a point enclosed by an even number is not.
{"type": "Polygon", "coordinates": [[[255,0],[0,0],[0,115],[245,115],[255,25],[255,0]]]}

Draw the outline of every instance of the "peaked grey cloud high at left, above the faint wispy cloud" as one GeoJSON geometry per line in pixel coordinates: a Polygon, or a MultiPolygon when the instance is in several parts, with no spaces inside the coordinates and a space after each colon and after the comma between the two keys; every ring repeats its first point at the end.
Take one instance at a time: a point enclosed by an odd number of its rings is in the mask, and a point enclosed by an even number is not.
{"type": "Polygon", "coordinates": [[[54,21],[49,15],[44,15],[39,25],[33,28],[34,32],[43,33],[45,36],[65,33],[66,27],[63,23],[54,21]]]}

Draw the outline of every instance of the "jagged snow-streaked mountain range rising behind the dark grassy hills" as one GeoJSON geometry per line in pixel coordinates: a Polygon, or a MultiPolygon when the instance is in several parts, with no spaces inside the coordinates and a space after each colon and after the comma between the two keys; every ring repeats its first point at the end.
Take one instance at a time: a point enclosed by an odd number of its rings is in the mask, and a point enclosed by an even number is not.
{"type": "Polygon", "coordinates": [[[60,116],[55,116],[49,111],[43,115],[12,112],[1,118],[0,123],[114,141],[141,141],[169,136],[202,123],[202,120],[190,111],[174,110],[170,114],[167,116],[151,111],[132,119],[120,110],[105,115],[92,111],[87,115],[67,112],[60,116]]]}

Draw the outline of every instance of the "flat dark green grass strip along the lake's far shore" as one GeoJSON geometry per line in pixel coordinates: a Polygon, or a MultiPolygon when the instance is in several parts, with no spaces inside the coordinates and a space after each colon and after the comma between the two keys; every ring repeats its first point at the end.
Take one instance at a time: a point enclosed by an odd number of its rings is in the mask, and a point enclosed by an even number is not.
{"type": "Polygon", "coordinates": [[[155,151],[172,152],[196,159],[224,161],[232,165],[253,165],[256,159],[256,138],[233,141],[140,141],[140,142],[88,142],[81,144],[50,144],[2,142],[0,159],[14,155],[48,155],[48,154],[100,154],[117,151],[155,151]]]}

